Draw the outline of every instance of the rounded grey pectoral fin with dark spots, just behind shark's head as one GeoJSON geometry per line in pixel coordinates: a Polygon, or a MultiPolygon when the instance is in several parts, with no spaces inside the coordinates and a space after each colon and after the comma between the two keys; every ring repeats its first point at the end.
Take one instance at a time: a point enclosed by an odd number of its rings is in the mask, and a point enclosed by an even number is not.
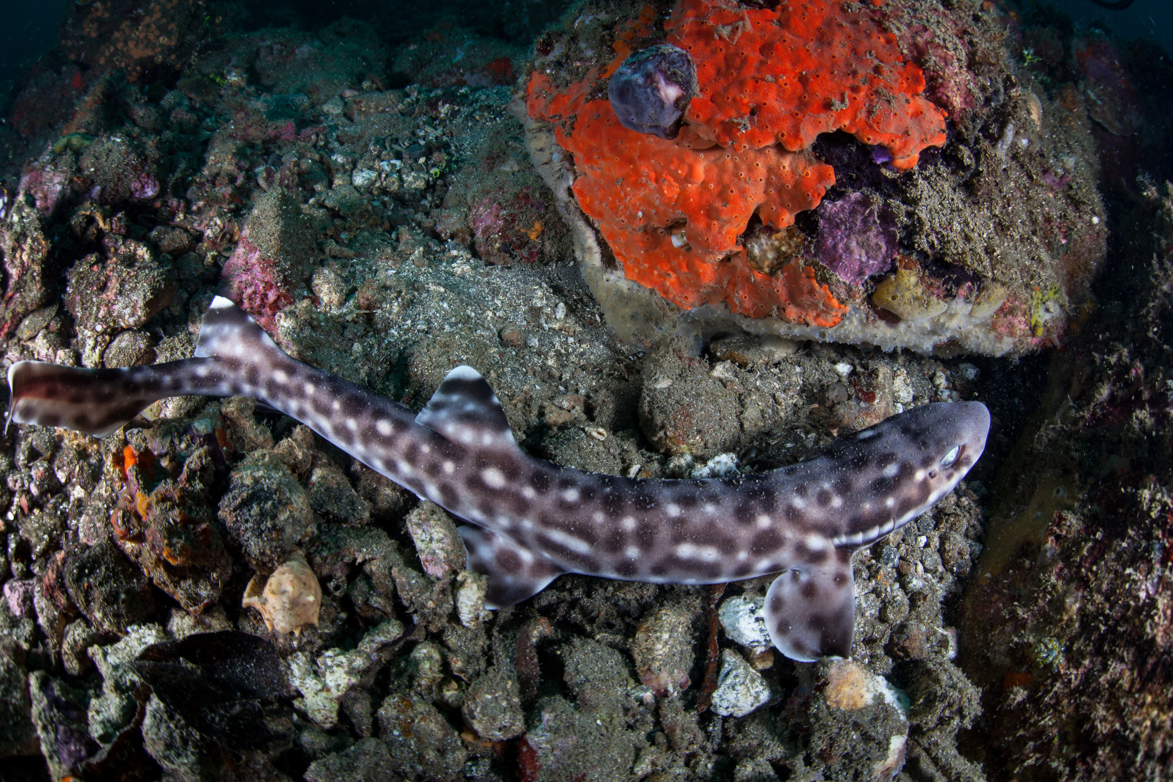
{"type": "Polygon", "coordinates": [[[766,593],[769,638],[792,660],[850,657],[855,628],[852,553],[836,549],[825,564],[786,571],[766,593]]]}

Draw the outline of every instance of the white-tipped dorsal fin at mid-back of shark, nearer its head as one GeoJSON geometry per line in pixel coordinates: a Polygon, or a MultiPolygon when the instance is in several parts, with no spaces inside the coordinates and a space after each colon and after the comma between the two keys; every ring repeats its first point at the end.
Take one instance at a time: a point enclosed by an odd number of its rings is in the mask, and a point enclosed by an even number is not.
{"type": "Polygon", "coordinates": [[[462,446],[517,447],[496,394],[481,373],[467,366],[445,376],[415,422],[462,446]]]}

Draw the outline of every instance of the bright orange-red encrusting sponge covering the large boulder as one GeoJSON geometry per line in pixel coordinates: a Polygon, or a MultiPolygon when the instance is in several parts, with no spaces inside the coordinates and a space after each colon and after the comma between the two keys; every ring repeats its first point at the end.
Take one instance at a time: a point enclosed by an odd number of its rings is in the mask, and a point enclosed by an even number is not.
{"type": "MultiPolygon", "coordinates": [[[[605,98],[606,79],[646,36],[616,39],[616,59],[557,87],[535,73],[527,110],[554,124],[571,152],[574,192],[596,220],[628,279],[691,310],[721,304],[751,318],[834,326],[847,307],[801,259],[764,274],[746,263],[741,234],[757,213],[784,229],[819,205],[832,168],[809,147],[845,130],[884,147],[897,169],[944,143],[944,116],[921,97],[921,69],[903,62],[873,5],[791,0],[731,8],[680,0],[666,42],[687,52],[699,93],[673,140],[624,128],[605,98]]],[[[642,28],[642,29],[640,29],[642,28]]]]}

